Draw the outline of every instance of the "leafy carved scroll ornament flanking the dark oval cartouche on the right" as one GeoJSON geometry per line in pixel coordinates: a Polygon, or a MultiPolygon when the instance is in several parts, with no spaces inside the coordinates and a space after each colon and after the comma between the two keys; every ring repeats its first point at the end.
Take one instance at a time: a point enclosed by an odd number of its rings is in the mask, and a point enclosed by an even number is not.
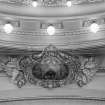
{"type": "Polygon", "coordinates": [[[81,69],[78,71],[76,76],[77,84],[82,87],[88,84],[97,72],[97,63],[94,60],[94,57],[88,58],[83,65],[81,65],[81,69]]]}

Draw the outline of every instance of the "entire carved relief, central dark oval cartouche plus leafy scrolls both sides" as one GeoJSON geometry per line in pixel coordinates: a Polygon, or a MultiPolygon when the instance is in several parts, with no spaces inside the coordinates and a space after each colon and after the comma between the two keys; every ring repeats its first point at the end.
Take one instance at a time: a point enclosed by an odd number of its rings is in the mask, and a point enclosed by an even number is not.
{"type": "Polygon", "coordinates": [[[62,52],[53,45],[38,54],[5,58],[7,59],[0,61],[0,70],[19,88],[26,83],[48,89],[73,83],[82,87],[88,84],[97,72],[93,57],[85,58],[81,62],[80,56],[72,52],[62,52]]]}

